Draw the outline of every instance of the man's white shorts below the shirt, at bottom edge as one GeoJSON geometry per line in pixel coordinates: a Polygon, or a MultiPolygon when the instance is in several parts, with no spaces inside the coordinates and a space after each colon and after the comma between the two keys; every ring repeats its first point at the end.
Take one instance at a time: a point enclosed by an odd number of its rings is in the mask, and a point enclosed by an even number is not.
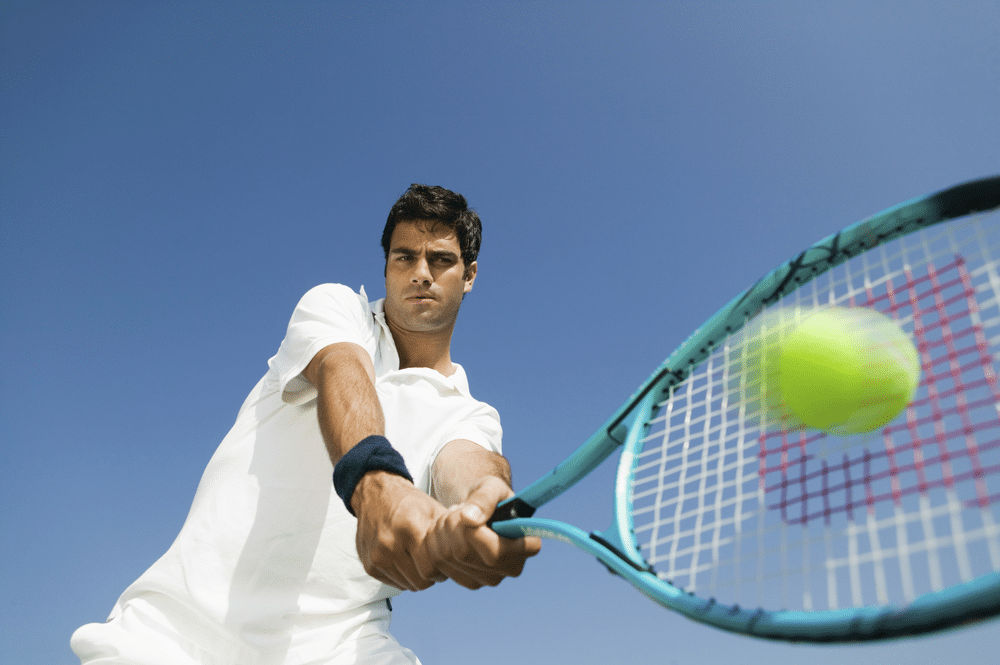
{"type": "MultiPolygon", "coordinates": [[[[77,629],[70,646],[82,665],[420,665],[389,634],[386,601],[325,617],[292,636],[250,644],[221,630],[181,625],[156,605],[128,601],[107,623],[77,629]],[[197,637],[192,637],[196,635],[197,637]]],[[[174,614],[173,612],[170,613],[174,614]]]]}

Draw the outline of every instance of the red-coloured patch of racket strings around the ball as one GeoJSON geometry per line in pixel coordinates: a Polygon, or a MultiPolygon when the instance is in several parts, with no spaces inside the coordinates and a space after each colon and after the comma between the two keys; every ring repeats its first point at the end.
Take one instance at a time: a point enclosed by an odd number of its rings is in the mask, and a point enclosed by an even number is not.
{"type": "MultiPolygon", "coordinates": [[[[988,487],[1000,475],[1000,380],[965,260],[956,256],[904,277],[900,284],[887,280],[878,293],[869,286],[864,302],[852,304],[895,320],[912,316],[922,365],[916,398],[905,418],[882,429],[881,449],[849,448],[837,462],[817,455],[823,432],[762,432],[760,487],[786,523],[830,524],[838,514],[853,520],[862,505],[874,514],[880,505],[899,507],[908,496],[937,489],[957,493],[967,507],[1000,500],[1000,491],[988,487]]],[[[836,450],[838,439],[831,436],[827,447],[836,450]]]]}

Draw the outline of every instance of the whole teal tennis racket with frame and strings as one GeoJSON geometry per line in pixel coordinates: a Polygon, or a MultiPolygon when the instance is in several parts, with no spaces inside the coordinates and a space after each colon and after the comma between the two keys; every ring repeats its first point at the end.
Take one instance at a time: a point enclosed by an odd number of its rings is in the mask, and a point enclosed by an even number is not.
{"type": "Polygon", "coordinates": [[[1000,176],[825,238],[713,315],[492,528],[597,557],[654,601],[790,641],[914,635],[1000,613],[1000,176]],[[741,378],[758,317],[867,307],[921,380],[867,434],[769,420],[741,378]],[[615,452],[613,523],[533,517],[615,452]]]}

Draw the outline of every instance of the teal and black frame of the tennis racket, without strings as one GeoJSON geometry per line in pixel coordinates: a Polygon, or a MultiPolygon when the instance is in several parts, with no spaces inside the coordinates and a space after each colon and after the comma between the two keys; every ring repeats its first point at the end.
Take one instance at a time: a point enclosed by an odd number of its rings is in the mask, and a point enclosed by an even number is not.
{"type": "Polygon", "coordinates": [[[919,596],[905,608],[871,606],[817,612],[744,609],[704,599],[661,580],[642,558],[632,534],[631,479],[652,412],[730,335],[763,308],[820,274],[873,247],[916,230],[1000,206],[1000,176],[911,199],[827,236],[762,277],[709,318],[650,375],[575,452],[551,472],[502,502],[491,517],[502,536],[541,536],[589,552],[611,572],[657,603],[709,625],[790,641],[863,641],[939,630],[1000,613],[1000,573],[919,596]],[[612,525],[587,532],[557,520],[534,518],[621,449],[612,525]]]}

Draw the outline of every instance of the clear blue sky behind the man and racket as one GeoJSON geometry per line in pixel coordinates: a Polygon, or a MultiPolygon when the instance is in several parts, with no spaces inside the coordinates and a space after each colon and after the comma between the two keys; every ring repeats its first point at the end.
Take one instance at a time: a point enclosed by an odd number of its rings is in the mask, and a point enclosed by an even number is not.
{"type": "MultiPolygon", "coordinates": [[[[1000,5],[0,2],[0,654],[74,662],[170,545],[309,287],[412,182],[484,223],[453,357],[515,486],[809,243],[1000,172],[1000,5]]],[[[546,507],[603,529],[613,463],[546,507]]],[[[772,644],[546,543],[396,603],[426,665],[982,662],[1000,624],[772,644]]]]}

